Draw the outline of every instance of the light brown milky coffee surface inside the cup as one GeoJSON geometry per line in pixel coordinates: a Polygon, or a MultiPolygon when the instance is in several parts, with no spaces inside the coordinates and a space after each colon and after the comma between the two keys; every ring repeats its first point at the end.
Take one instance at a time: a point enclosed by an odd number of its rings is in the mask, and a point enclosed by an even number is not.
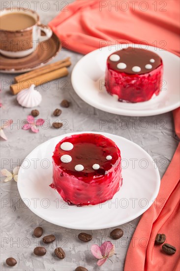
{"type": "Polygon", "coordinates": [[[36,23],[35,19],[22,12],[12,12],[0,16],[0,29],[17,31],[29,28],[36,23]]]}

